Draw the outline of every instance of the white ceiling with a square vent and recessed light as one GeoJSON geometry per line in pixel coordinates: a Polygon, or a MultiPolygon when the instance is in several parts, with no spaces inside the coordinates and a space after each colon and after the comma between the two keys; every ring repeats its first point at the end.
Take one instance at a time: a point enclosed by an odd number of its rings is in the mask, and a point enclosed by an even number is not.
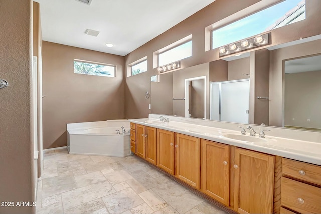
{"type": "Polygon", "coordinates": [[[43,40],[125,56],[215,0],[35,1],[43,40]],[[101,33],[86,35],[86,29],[101,33]]]}

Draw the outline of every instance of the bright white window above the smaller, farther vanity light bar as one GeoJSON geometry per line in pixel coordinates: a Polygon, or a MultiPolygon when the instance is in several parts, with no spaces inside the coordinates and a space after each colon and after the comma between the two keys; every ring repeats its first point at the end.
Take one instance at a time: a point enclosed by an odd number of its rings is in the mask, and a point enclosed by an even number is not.
{"type": "Polygon", "coordinates": [[[166,65],[192,56],[192,41],[176,46],[158,55],[158,66],[166,65]]]}

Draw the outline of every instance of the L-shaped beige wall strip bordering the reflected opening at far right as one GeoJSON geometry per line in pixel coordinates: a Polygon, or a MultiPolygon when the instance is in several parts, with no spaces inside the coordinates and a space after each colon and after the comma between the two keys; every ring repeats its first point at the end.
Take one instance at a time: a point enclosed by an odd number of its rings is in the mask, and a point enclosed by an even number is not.
{"type": "Polygon", "coordinates": [[[319,54],[320,50],[321,40],[315,40],[270,51],[269,125],[282,126],[284,121],[284,60],[319,54]]]}

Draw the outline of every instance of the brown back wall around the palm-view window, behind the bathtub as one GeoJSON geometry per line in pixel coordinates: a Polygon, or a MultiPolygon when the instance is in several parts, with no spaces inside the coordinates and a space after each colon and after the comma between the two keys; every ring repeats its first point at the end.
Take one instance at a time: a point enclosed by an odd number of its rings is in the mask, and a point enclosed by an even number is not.
{"type": "Polygon", "coordinates": [[[123,69],[124,57],[43,42],[44,149],[67,145],[67,123],[124,118],[123,69]],[[75,74],[74,59],[116,65],[116,77],[75,74]]]}

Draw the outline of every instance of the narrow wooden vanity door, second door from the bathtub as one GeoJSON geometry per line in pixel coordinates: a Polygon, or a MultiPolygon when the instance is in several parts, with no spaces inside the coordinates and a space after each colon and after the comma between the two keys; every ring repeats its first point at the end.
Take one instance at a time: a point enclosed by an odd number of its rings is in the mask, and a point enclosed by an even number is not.
{"type": "Polygon", "coordinates": [[[157,165],[157,129],[146,126],[146,160],[157,165]]]}

